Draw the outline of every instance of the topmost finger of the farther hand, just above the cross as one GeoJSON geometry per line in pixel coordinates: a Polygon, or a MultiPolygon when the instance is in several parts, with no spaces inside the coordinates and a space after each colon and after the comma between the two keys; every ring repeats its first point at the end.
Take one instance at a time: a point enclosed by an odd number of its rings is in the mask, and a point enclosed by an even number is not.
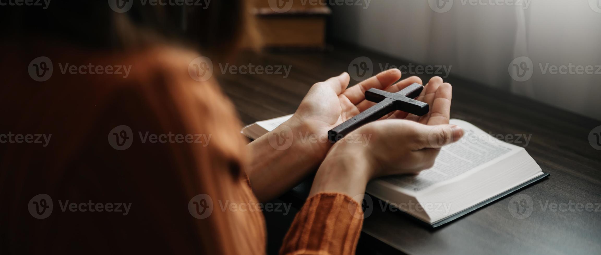
{"type": "Polygon", "coordinates": [[[357,85],[346,89],[342,95],[349,99],[350,103],[358,104],[365,99],[365,91],[370,88],[385,89],[392,83],[401,79],[401,71],[397,68],[383,71],[370,79],[359,82],[357,85]]]}

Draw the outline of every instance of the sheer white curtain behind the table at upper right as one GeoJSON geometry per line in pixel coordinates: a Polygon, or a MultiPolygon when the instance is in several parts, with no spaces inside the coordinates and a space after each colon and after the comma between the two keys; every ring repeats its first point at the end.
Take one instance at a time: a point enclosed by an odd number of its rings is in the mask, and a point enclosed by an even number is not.
{"type": "Polygon", "coordinates": [[[332,10],[334,37],[601,119],[601,0],[373,0],[332,10]],[[510,64],[528,64],[531,77],[513,79],[510,64]]]}

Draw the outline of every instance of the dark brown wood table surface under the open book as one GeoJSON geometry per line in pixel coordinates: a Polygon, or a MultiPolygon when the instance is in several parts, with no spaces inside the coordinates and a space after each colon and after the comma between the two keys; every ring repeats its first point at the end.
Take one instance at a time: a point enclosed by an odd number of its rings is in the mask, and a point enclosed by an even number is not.
{"type": "MultiPolygon", "coordinates": [[[[311,85],[349,70],[358,56],[368,56],[376,70],[376,63],[406,64],[346,45],[317,53],[245,53],[239,64],[290,65],[290,75],[225,74],[219,82],[244,124],[250,124],[293,113],[311,85]]],[[[430,78],[418,76],[424,83],[430,78]]],[[[451,118],[491,134],[531,134],[526,151],[551,176],[433,230],[399,212],[374,209],[364,221],[358,253],[601,254],[601,151],[588,142],[588,134],[601,122],[453,74],[445,82],[453,85],[451,118]],[[532,199],[528,218],[510,214],[509,202],[517,194],[532,199]],[[546,206],[553,203],[593,203],[594,209],[546,206]]],[[[298,208],[310,185],[307,180],[281,199],[298,208]]]]}

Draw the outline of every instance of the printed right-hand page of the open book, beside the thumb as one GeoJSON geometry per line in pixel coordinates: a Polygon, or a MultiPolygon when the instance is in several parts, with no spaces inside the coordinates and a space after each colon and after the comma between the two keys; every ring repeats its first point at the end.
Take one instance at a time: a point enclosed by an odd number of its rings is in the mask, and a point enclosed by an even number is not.
{"type": "Polygon", "coordinates": [[[522,149],[490,136],[469,122],[451,119],[451,124],[462,127],[465,131],[464,136],[442,148],[432,168],[418,175],[387,176],[380,180],[404,190],[423,191],[453,178],[469,175],[474,170],[509,157],[522,149]]]}

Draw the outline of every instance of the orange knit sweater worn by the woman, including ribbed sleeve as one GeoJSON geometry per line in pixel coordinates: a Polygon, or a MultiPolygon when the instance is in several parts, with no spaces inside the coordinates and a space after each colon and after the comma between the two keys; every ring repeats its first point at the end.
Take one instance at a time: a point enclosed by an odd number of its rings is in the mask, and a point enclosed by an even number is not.
{"type": "MultiPolygon", "coordinates": [[[[213,80],[189,76],[197,55],[168,47],[10,49],[0,59],[0,133],[51,138],[46,146],[0,145],[1,254],[265,253],[263,214],[223,206],[257,199],[246,183],[245,139],[232,104],[213,80]],[[39,56],[52,60],[44,82],[27,71],[39,56]],[[90,65],[122,66],[121,74],[91,74],[90,65]],[[131,130],[125,149],[111,143],[121,125],[131,130]],[[159,142],[148,140],[153,134],[159,142]],[[160,142],[161,134],[201,140],[160,142]],[[52,201],[45,218],[31,209],[39,194],[52,201]],[[130,207],[94,206],[109,203],[130,207]]],[[[361,218],[361,206],[344,194],[310,197],[281,253],[353,254],[361,218]]]]}

